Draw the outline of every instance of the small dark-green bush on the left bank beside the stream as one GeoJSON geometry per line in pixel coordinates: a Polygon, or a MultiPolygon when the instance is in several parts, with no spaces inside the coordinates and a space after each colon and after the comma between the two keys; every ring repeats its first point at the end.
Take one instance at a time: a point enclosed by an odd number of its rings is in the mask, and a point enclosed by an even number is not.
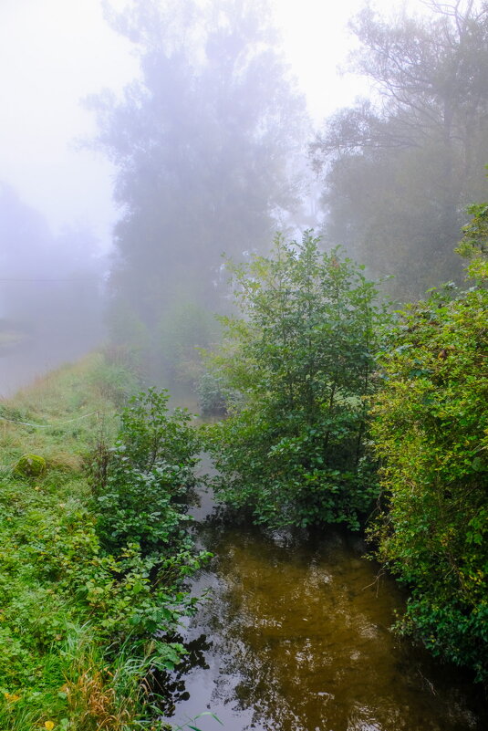
{"type": "Polygon", "coordinates": [[[170,413],[168,399],[167,392],[150,389],[130,400],[105,477],[94,482],[98,533],[110,550],[134,541],[144,554],[176,544],[187,548],[185,497],[194,483],[198,443],[190,414],[170,413]]]}

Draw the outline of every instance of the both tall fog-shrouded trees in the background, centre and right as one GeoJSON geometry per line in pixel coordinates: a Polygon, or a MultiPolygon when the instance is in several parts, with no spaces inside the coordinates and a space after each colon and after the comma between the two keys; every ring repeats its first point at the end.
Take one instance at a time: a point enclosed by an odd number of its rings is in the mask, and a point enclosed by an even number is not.
{"type": "Polygon", "coordinates": [[[122,100],[90,99],[123,210],[109,319],[153,377],[193,380],[194,346],[212,343],[211,313],[228,308],[221,256],[269,249],[280,214],[298,210],[307,145],[308,175],[324,186],[323,245],[394,275],[390,294],[403,300],[460,277],[464,210],[485,197],[488,11],[430,6],[388,22],[366,6],[351,21],[351,66],[374,91],[314,140],[265,0],[108,11],[140,57],[122,100]]]}

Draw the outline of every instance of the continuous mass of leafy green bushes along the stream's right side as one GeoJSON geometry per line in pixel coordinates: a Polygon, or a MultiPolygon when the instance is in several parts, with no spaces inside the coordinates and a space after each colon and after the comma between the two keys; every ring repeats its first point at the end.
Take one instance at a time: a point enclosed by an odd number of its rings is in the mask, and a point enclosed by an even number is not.
{"type": "Polygon", "coordinates": [[[396,312],[311,232],[231,264],[209,358],[229,415],[204,431],[218,496],[265,526],[366,528],[410,594],[397,630],[486,683],[488,205],[469,213],[466,287],[396,312]]]}

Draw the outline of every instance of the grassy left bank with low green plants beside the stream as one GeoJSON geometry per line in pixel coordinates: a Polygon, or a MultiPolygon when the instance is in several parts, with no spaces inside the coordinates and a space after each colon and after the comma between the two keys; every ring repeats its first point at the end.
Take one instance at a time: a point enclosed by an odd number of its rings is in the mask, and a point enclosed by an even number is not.
{"type": "MultiPolygon", "coordinates": [[[[93,354],[0,404],[1,729],[151,726],[149,668],[171,667],[180,655],[154,631],[171,632],[192,611],[181,585],[198,559],[184,506],[172,504],[168,483],[164,539],[150,548],[131,539],[127,506],[121,538],[110,538],[99,527],[100,500],[111,500],[115,515],[123,486],[87,469],[94,455],[98,469],[100,458],[104,469],[117,466],[107,447],[117,433],[121,444],[117,412],[135,385],[93,354]],[[41,475],[16,474],[25,454],[45,460],[41,475]]],[[[157,485],[155,469],[139,465],[138,475],[157,485]]]]}

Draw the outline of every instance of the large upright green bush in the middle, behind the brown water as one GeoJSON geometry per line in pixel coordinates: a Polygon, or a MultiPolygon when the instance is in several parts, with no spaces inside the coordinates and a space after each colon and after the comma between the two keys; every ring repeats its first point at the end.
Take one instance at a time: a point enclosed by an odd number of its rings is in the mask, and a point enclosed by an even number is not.
{"type": "Polygon", "coordinates": [[[207,428],[215,486],[257,522],[357,529],[377,494],[366,442],[376,290],[310,234],[278,236],[272,257],[231,269],[244,318],[223,319],[213,359],[234,394],[230,417],[207,428]]]}

